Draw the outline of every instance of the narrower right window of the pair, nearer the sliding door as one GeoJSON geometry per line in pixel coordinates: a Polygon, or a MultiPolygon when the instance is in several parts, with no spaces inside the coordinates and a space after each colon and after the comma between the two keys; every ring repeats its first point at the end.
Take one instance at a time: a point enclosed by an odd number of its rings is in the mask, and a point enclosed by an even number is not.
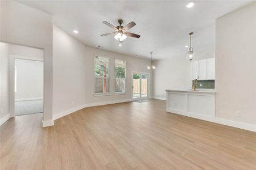
{"type": "Polygon", "coordinates": [[[115,94],[126,92],[126,61],[115,59],[115,94]]]}

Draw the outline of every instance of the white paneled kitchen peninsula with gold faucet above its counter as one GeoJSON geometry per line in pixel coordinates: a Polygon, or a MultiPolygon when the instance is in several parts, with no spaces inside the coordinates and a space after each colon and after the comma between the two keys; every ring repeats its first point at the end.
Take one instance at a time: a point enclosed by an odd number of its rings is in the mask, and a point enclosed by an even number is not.
{"type": "Polygon", "coordinates": [[[166,111],[211,121],[215,117],[215,91],[166,90],[166,111]]]}

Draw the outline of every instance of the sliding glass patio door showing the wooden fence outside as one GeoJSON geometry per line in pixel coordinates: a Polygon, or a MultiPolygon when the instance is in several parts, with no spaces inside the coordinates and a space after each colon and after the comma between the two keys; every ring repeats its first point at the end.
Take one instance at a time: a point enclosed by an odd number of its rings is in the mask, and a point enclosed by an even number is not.
{"type": "Polygon", "coordinates": [[[133,100],[148,99],[148,74],[133,73],[133,100]]]}

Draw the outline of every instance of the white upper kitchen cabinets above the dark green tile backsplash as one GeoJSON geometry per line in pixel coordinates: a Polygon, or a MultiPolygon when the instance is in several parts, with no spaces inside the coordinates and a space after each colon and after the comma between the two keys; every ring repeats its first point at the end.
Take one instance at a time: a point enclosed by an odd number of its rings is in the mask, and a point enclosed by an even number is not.
{"type": "Polygon", "coordinates": [[[200,59],[191,62],[192,79],[215,79],[215,58],[200,59]]]}

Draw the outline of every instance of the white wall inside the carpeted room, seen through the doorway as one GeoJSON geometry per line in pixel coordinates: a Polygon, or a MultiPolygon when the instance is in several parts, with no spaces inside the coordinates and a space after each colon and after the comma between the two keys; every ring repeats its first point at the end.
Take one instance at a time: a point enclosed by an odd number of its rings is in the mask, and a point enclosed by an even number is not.
{"type": "Polygon", "coordinates": [[[15,59],[15,101],[43,99],[43,61],[15,59]]]}

